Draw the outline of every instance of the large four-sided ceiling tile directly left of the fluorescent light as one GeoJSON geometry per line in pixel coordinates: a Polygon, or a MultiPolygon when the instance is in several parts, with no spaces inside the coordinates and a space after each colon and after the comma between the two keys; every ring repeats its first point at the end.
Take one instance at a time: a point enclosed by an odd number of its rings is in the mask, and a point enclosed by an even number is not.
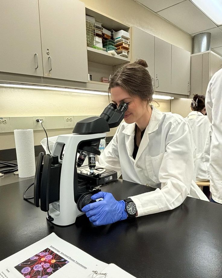
{"type": "Polygon", "coordinates": [[[189,34],[217,27],[189,0],[157,13],[189,34]]]}

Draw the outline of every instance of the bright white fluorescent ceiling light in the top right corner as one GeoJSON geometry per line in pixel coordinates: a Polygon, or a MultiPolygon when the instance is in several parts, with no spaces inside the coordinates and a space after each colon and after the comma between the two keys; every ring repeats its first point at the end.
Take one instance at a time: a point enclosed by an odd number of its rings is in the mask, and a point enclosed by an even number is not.
{"type": "Polygon", "coordinates": [[[192,0],[217,25],[222,24],[222,0],[192,0]]]}

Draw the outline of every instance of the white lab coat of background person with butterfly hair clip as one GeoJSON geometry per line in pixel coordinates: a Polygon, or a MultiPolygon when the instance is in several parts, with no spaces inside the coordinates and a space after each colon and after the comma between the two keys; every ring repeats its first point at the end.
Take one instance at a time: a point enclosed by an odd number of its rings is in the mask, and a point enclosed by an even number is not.
{"type": "Polygon", "coordinates": [[[209,180],[211,123],[201,112],[192,111],[185,118],[188,122],[196,146],[196,179],[209,180]]]}

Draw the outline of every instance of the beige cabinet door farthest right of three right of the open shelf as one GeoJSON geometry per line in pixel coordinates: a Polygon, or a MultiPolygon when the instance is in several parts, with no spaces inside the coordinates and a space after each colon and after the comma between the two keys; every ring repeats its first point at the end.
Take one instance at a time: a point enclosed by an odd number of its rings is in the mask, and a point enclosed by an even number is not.
{"type": "Polygon", "coordinates": [[[189,95],[190,52],[172,45],[171,92],[189,95]]]}

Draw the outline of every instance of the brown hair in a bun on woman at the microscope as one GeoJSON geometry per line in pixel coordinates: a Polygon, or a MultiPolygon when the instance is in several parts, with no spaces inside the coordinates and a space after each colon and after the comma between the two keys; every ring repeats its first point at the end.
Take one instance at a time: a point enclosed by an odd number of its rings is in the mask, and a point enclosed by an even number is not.
{"type": "Polygon", "coordinates": [[[108,92],[110,89],[120,86],[131,96],[138,96],[147,104],[153,100],[153,85],[151,76],[146,69],[148,67],[145,60],[136,60],[118,69],[111,77],[108,92]]]}

